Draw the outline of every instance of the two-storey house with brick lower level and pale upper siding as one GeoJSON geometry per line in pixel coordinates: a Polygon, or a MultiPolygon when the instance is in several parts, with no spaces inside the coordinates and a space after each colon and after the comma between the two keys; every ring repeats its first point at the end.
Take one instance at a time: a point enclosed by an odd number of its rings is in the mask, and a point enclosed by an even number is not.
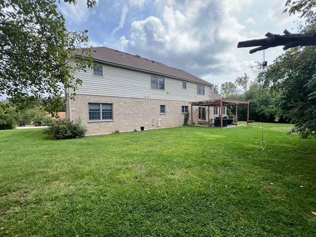
{"type": "MultiPolygon", "coordinates": [[[[75,100],[66,89],[66,117],[80,118],[86,135],[180,126],[191,113],[189,102],[221,98],[213,84],[183,70],[107,47],[91,51],[95,64],[75,75],[82,80],[75,100]]],[[[193,122],[210,122],[219,113],[210,108],[194,107],[193,122]]]]}

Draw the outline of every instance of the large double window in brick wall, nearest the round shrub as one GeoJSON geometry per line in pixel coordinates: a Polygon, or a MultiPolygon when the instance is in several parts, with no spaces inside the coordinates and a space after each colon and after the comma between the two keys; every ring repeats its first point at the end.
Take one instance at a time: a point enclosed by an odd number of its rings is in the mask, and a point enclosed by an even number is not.
{"type": "Polygon", "coordinates": [[[89,103],[89,121],[112,120],[112,104],[89,103]]]}

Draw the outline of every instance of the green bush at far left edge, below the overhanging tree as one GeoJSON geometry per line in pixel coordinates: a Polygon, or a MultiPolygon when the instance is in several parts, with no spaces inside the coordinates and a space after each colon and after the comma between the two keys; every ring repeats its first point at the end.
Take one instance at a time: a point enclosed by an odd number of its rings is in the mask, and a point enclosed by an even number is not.
{"type": "Polygon", "coordinates": [[[21,119],[21,115],[8,101],[0,102],[0,130],[14,129],[21,119]]]}

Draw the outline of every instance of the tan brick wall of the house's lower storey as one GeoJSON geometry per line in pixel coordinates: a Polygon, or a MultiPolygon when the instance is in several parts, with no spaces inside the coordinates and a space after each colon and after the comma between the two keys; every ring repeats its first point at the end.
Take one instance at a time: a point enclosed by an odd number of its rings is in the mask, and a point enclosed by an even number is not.
{"type": "MultiPolygon", "coordinates": [[[[120,132],[140,130],[141,126],[144,126],[145,130],[181,126],[185,116],[182,114],[182,106],[188,106],[189,113],[191,113],[191,105],[184,101],[77,94],[75,100],[67,101],[66,116],[73,120],[80,118],[82,124],[88,129],[87,136],[101,135],[112,133],[115,130],[120,132]],[[88,103],[113,104],[113,120],[89,121],[88,103]],[[69,104],[71,104],[71,110],[69,110],[69,104]],[[165,105],[165,114],[160,114],[160,105],[165,105]],[[159,119],[161,119],[160,126],[159,119]]],[[[212,107],[210,107],[210,111],[213,113],[212,107]]],[[[207,108],[206,119],[208,119],[207,108]]],[[[193,122],[198,123],[197,107],[193,108],[193,122]]],[[[188,123],[191,124],[191,115],[188,123]]]]}

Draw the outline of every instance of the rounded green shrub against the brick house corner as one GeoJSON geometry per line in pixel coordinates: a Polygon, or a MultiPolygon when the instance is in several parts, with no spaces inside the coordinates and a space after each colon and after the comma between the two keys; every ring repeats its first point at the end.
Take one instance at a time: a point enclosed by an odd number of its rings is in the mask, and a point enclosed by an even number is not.
{"type": "Polygon", "coordinates": [[[43,131],[44,134],[52,136],[54,140],[73,139],[84,137],[87,129],[81,124],[80,119],[76,122],[68,118],[55,120],[49,123],[49,127],[43,131]]]}

